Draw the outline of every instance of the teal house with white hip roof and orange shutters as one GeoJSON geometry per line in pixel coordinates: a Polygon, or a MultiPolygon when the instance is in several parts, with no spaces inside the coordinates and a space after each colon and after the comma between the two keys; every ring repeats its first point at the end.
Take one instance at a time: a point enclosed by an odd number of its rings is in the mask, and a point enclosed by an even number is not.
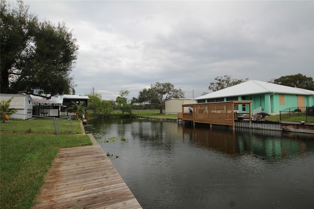
{"type": "MultiPolygon", "coordinates": [[[[278,85],[258,80],[249,80],[219,91],[215,91],[197,98],[197,103],[214,103],[228,101],[252,101],[253,114],[265,112],[279,113],[287,108],[314,106],[314,91],[278,85]]],[[[249,111],[249,104],[235,106],[235,111],[245,113],[249,111]]],[[[292,111],[293,111],[292,110],[292,111]]]]}

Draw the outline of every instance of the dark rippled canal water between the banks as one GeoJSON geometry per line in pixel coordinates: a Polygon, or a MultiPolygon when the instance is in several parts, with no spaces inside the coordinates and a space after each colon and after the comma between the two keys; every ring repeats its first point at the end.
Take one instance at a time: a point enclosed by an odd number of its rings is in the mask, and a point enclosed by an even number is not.
{"type": "Polygon", "coordinates": [[[88,123],[143,209],[314,208],[313,134],[140,119],[88,123]],[[127,141],[104,142],[110,137],[127,141]]]}

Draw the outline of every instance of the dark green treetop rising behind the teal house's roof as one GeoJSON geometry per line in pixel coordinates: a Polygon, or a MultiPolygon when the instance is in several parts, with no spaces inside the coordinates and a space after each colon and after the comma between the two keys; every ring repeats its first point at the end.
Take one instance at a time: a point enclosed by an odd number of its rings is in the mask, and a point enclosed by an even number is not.
{"type": "Polygon", "coordinates": [[[313,78],[312,77],[306,77],[305,75],[302,75],[300,73],[295,74],[295,75],[290,75],[290,76],[282,76],[280,78],[273,79],[269,82],[314,91],[314,80],[313,80],[313,78]]]}

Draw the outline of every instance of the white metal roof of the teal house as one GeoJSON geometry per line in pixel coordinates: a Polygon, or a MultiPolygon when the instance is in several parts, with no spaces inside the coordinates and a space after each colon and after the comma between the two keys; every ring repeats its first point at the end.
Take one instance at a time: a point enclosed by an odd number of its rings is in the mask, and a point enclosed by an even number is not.
{"type": "Polygon", "coordinates": [[[296,95],[314,95],[314,91],[296,87],[284,86],[275,83],[268,83],[259,80],[249,80],[237,85],[221,89],[194,100],[234,97],[252,94],[278,93],[278,94],[296,94],[296,95]]]}

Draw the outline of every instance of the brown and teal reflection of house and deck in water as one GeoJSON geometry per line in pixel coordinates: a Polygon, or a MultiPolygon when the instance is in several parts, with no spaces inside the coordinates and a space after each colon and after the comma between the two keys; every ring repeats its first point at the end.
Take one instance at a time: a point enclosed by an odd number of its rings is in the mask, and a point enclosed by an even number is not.
{"type": "Polygon", "coordinates": [[[285,158],[307,152],[307,139],[313,135],[269,130],[208,130],[207,128],[183,128],[183,139],[194,139],[197,146],[212,149],[232,156],[248,154],[268,159],[285,158]],[[302,139],[302,140],[298,140],[302,139]]]}

